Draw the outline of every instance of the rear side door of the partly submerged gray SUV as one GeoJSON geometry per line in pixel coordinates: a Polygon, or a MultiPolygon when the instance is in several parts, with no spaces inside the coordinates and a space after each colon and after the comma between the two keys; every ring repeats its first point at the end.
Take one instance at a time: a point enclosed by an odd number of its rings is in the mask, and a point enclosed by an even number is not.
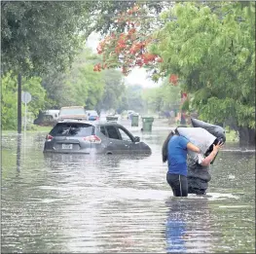
{"type": "Polygon", "coordinates": [[[108,144],[106,153],[123,154],[129,152],[128,142],[122,139],[121,133],[117,127],[105,126],[108,135],[108,144]]]}

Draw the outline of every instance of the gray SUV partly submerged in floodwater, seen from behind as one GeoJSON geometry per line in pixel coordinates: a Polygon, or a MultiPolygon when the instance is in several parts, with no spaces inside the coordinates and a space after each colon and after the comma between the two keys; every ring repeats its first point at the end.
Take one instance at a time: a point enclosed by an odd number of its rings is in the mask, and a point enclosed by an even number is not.
{"type": "Polygon", "coordinates": [[[63,120],[46,136],[44,153],[151,154],[151,149],[115,122],[63,120]]]}

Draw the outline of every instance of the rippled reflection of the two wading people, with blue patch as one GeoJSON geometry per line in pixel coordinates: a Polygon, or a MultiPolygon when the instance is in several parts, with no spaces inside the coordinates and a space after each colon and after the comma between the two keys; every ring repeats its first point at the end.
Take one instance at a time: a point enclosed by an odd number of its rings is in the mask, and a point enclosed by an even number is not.
{"type": "Polygon", "coordinates": [[[214,238],[210,231],[210,209],[207,199],[177,199],[166,201],[166,251],[212,252],[214,238]]]}

